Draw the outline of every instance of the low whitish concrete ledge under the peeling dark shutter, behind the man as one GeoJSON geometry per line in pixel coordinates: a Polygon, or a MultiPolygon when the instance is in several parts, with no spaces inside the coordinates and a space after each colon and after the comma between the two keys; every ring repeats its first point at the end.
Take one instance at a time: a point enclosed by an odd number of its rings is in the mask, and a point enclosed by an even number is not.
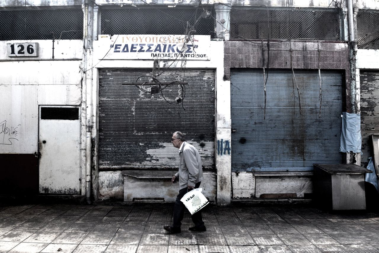
{"type": "MultiPolygon", "coordinates": [[[[179,183],[172,184],[171,178],[177,170],[127,170],[124,177],[124,201],[174,202],[179,183]]],[[[216,198],[216,174],[204,171],[200,188],[203,194],[214,201],[216,198]]]]}

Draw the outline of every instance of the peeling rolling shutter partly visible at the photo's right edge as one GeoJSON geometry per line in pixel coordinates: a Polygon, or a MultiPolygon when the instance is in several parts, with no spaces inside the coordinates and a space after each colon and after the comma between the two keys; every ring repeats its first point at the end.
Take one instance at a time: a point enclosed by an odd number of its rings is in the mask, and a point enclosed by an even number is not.
{"type": "Polygon", "coordinates": [[[366,167],[372,155],[372,134],[379,134],[379,71],[360,71],[361,165],[366,167]]]}

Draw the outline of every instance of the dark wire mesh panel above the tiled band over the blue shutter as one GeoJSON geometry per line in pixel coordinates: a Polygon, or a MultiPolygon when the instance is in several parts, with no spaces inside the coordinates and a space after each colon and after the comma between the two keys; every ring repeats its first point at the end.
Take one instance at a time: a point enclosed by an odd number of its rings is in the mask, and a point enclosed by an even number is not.
{"type": "Polygon", "coordinates": [[[320,39],[340,40],[337,11],[284,9],[232,9],[232,39],[320,39]]]}

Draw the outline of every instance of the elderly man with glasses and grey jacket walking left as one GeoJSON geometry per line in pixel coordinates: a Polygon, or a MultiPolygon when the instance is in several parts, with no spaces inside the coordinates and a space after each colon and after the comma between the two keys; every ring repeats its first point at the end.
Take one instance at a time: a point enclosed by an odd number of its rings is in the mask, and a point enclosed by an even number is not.
{"type": "MultiPolygon", "coordinates": [[[[171,138],[172,145],[179,148],[179,172],[171,179],[175,184],[179,180],[179,194],[176,197],[174,205],[174,220],[172,226],[164,226],[163,228],[170,233],[180,233],[185,206],[180,199],[189,191],[199,188],[203,180],[203,169],[201,166],[201,158],[199,151],[191,144],[185,141],[185,137],[181,132],[175,132],[171,138]]],[[[190,231],[206,231],[201,211],[197,211],[192,216],[195,226],[190,227],[190,231]]]]}

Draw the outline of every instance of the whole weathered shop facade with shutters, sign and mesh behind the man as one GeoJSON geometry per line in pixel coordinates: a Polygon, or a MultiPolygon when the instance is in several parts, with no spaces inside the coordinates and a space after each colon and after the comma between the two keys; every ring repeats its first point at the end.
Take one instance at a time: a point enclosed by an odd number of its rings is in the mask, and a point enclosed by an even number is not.
{"type": "Polygon", "coordinates": [[[3,2],[3,195],[172,201],[180,130],[210,200],[310,198],[313,163],[360,163],[339,151],[342,112],[362,111],[371,155],[379,61],[348,42],[346,3],[306,2],[3,2]],[[26,14],[60,25],[25,33],[26,14]]]}

